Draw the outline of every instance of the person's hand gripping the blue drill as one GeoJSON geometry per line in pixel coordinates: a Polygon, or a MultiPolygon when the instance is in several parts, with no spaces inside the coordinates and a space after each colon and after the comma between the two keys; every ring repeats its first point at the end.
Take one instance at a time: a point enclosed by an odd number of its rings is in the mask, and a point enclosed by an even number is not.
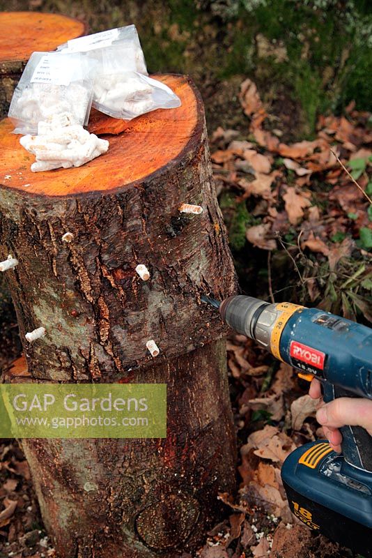
{"type": "Polygon", "coordinates": [[[329,403],[323,401],[320,382],[314,378],[309,395],[319,399],[316,420],[323,426],[324,433],[334,451],[341,453],[341,426],[362,426],[372,436],[372,400],[341,397],[329,403]]]}

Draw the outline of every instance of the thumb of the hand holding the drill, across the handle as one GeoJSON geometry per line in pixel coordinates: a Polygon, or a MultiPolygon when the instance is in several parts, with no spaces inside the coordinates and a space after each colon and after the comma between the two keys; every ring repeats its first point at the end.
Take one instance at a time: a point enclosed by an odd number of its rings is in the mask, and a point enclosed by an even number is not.
{"type": "Polygon", "coordinates": [[[316,420],[330,428],[362,426],[372,435],[372,401],[346,397],[335,399],[318,409],[316,420]]]}

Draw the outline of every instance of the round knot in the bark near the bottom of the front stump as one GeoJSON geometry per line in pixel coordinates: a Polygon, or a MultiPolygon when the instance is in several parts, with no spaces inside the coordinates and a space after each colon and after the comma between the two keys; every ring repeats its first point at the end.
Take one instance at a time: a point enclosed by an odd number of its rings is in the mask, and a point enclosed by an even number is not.
{"type": "Polygon", "coordinates": [[[199,518],[199,502],[185,495],[171,495],[139,513],[139,537],[150,548],[164,550],[184,545],[199,518]]]}

